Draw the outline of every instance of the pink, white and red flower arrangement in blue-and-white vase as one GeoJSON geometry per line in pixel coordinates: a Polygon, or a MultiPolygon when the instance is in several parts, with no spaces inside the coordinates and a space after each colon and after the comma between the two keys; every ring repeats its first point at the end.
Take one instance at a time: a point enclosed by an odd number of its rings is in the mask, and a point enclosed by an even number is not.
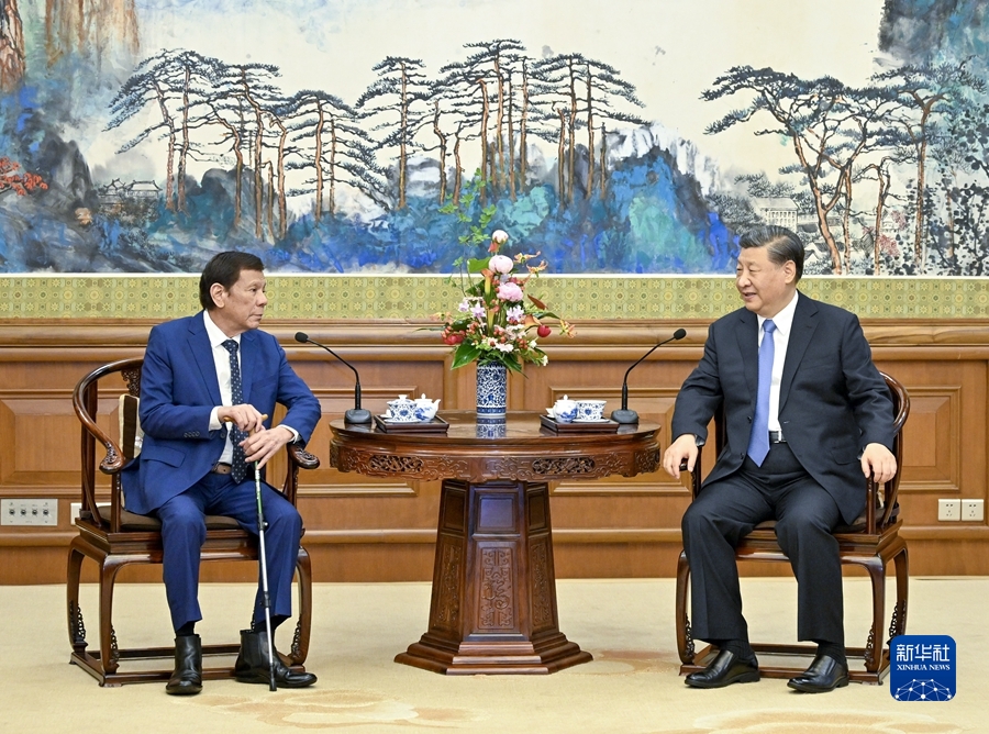
{"type": "Polygon", "coordinates": [[[455,347],[454,369],[475,360],[499,363],[516,372],[522,371],[523,362],[545,365],[548,357],[537,340],[549,336],[553,329],[543,323],[544,319],[555,319],[560,334],[574,336],[570,324],[525,292],[530,279],[546,269],[546,262],[532,264],[540,253],[514,257],[501,254],[508,240],[507,232],[496,230],[488,257],[468,259],[466,276],[464,260],[457,262],[464,300],[455,313],[440,314],[444,321],[441,337],[455,347]],[[481,279],[474,280],[470,276],[475,275],[481,279]]]}

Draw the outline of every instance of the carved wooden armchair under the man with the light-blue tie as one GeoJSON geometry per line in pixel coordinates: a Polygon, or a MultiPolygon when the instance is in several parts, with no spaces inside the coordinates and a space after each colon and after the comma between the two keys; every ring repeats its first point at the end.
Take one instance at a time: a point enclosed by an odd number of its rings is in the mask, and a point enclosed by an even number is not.
{"type": "MultiPolygon", "coordinates": [[[[897,601],[893,605],[889,623],[889,638],[904,634],[907,631],[907,544],[899,536],[901,520],[897,492],[903,468],[903,442],[901,430],[910,412],[910,397],[905,388],[889,375],[882,375],[893,402],[896,437],[893,455],[897,457],[897,475],[892,480],[879,486],[873,480],[865,481],[866,510],[851,526],[835,530],[838,541],[842,564],[862,566],[873,581],[873,625],[864,647],[846,647],[849,663],[855,658],[865,660],[865,670],[851,669],[851,680],[865,683],[879,683],[889,668],[888,640],[882,636],[886,614],[886,567],[890,560],[894,563],[897,574],[897,601]]],[[[724,446],[724,425],[720,415],[714,418],[714,447],[718,455],[724,446]]],[[[700,456],[694,465],[691,491],[697,497],[701,488],[700,456]]],[[[735,549],[738,560],[782,561],[789,563],[776,542],[775,521],[759,523],[746,535],[735,549]]],[[[680,655],[680,675],[702,670],[714,653],[709,645],[699,653],[694,652],[688,616],[688,590],[690,566],[687,556],[680,553],[677,564],[677,650],[680,655]]],[[[753,643],[757,654],[768,657],[812,656],[816,649],[813,645],[786,645],[753,643]]],[[[792,678],[803,671],[805,666],[790,667],[781,664],[764,663],[760,658],[759,671],[767,678],[792,678]]]]}

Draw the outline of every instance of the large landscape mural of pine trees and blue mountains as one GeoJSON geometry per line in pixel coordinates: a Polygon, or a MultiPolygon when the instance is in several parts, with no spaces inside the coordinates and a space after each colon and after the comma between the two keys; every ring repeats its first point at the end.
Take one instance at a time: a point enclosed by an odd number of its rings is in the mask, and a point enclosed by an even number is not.
{"type": "Polygon", "coordinates": [[[0,271],[985,276],[978,0],[0,0],[0,271]]]}

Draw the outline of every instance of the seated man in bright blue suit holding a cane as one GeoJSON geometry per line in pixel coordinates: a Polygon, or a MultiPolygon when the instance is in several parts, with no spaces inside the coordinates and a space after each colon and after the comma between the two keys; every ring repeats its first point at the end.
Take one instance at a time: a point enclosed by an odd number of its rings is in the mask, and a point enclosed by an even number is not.
{"type": "MultiPolygon", "coordinates": [[[[286,444],[307,442],[320,403],[296,375],[274,336],[258,331],[265,305],[264,266],[246,253],[213,257],[199,282],[203,311],[152,329],[141,376],[138,461],[124,475],[127,510],[162,521],[163,574],[175,627],[175,672],[166,691],[202,689],[202,648],[195,633],[200,547],[208,514],[234,518],[257,533],[254,467],[286,444]],[[271,427],[275,404],[288,413],[271,427]]],[[[296,508],[262,486],[265,545],[274,627],[291,616],[291,585],[302,535],[296,508]]],[[[267,683],[268,643],[264,597],[258,588],[252,629],[241,633],[235,675],[267,683]]],[[[277,653],[278,687],[315,682],[286,667],[277,653]]]]}

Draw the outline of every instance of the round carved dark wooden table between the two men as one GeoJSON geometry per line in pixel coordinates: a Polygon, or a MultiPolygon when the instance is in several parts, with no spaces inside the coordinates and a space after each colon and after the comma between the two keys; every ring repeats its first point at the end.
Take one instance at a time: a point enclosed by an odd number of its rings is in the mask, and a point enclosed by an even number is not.
{"type": "Polygon", "coordinates": [[[590,661],[559,631],[551,480],[659,467],[659,426],[556,433],[534,412],[502,425],[447,411],[444,433],[331,422],[331,465],[370,477],[442,480],[429,630],[395,659],[435,672],[547,674],[590,661]]]}

